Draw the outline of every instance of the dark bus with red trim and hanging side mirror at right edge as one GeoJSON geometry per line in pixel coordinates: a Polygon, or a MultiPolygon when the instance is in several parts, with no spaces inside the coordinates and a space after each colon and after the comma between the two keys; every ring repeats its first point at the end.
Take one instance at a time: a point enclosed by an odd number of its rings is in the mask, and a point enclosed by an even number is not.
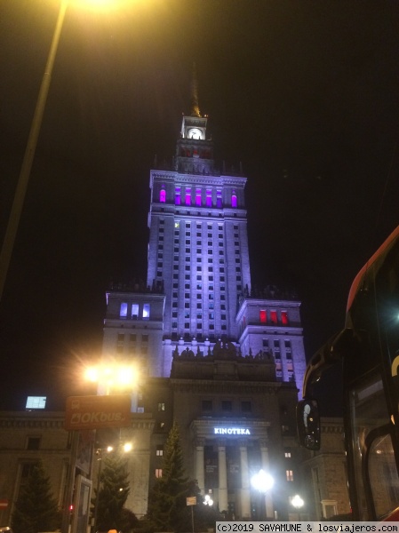
{"type": "Polygon", "coordinates": [[[320,449],[315,382],[333,364],[343,386],[351,520],[399,521],[399,227],[356,275],[345,328],[307,365],[297,409],[307,449],[320,449]]]}

